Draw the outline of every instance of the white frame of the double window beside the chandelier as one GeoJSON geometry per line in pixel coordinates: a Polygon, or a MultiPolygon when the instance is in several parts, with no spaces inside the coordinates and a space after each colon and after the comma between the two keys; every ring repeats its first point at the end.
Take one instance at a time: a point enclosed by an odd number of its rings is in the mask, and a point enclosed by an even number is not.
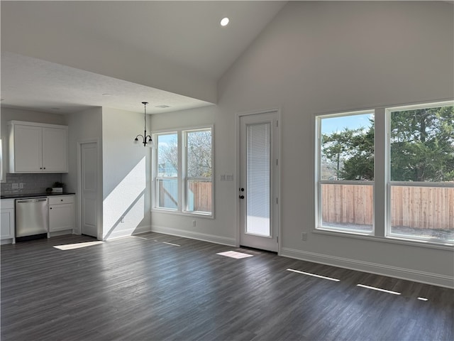
{"type": "MultiPolygon", "coordinates": [[[[177,160],[178,160],[178,172],[177,177],[172,177],[177,179],[177,188],[178,188],[178,204],[177,209],[170,209],[165,207],[159,207],[157,204],[159,203],[159,196],[157,193],[158,185],[157,180],[162,179],[162,177],[158,177],[158,164],[157,164],[157,143],[153,146],[153,155],[152,155],[152,205],[151,211],[153,212],[160,212],[160,213],[168,213],[172,215],[186,215],[186,216],[197,216],[197,217],[206,217],[206,218],[214,218],[214,125],[204,125],[204,126],[192,126],[192,127],[184,127],[178,129],[165,129],[160,131],[153,131],[153,141],[158,142],[160,135],[166,134],[177,134],[177,160]],[[187,176],[187,133],[192,131],[211,131],[211,212],[203,212],[203,211],[191,211],[187,210],[187,182],[189,180],[193,180],[195,178],[187,176]]],[[[168,177],[165,177],[168,179],[168,177]]],[[[201,178],[206,180],[206,178],[201,178]]]]}

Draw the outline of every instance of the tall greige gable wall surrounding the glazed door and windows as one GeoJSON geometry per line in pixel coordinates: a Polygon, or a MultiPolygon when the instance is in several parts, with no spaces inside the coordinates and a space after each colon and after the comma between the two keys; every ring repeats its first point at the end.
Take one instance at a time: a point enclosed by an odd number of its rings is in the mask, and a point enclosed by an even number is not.
{"type": "Polygon", "coordinates": [[[453,251],[314,233],[314,114],[454,94],[453,5],[289,1],[218,82],[218,106],[153,115],[153,130],[214,124],[215,219],[152,213],[155,231],[235,244],[236,114],[282,110],[281,254],[453,286],[453,251]],[[307,232],[307,241],[301,240],[307,232]]]}

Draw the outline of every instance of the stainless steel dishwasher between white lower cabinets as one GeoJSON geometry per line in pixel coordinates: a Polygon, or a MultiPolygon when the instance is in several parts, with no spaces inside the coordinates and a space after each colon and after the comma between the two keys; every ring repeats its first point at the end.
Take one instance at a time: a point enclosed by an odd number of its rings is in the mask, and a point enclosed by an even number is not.
{"type": "Polygon", "coordinates": [[[48,233],[48,198],[16,199],[16,237],[48,233]]]}

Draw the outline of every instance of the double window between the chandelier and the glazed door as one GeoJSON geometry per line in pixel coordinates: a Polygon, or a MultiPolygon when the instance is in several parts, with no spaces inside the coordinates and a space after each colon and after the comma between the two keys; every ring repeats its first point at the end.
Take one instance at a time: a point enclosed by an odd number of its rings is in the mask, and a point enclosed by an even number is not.
{"type": "Polygon", "coordinates": [[[212,129],[155,134],[153,207],[212,215],[212,129]]]}

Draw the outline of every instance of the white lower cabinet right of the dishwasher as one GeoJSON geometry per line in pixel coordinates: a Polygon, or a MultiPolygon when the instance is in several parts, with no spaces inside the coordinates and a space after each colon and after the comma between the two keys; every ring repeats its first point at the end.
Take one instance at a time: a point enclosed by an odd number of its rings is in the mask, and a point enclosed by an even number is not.
{"type": "Polygon", "coordinates": [[[74,195],[49,197],[49,232],[74,229],[74,195]]]}

